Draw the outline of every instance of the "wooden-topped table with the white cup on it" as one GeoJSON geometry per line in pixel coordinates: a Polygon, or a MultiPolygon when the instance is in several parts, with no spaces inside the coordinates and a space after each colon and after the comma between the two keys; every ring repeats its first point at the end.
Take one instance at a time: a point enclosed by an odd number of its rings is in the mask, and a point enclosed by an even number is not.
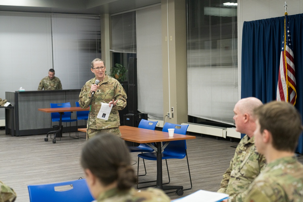
{"type": "MultiPolygon", "coordinates": [[[[162,148],[161,142],[169,142],[175,140],[191,140],[195,136],[174,134],[174,137],[169,137],[168,132],[148,130],[131,126],[120,126],[121,138],[126,141],[137,143],[152,143],[156,142],[157,147],[153,147],[157,152],[157,184],[156,187],[162,190],[183,189],[183,186],[166,186],[162,181],[162,148]]],[[[86,132],[86,128],[78,129],[78,131],[86,132]]],[[[152,146],[152,145],[150,145],[152,146]]]]}

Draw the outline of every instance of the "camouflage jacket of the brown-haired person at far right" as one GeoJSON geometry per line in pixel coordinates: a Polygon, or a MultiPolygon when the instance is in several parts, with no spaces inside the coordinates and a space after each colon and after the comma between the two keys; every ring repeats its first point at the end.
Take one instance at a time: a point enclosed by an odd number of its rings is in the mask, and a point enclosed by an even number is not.
{"type": "Polygon", "coordinates": [[[245,201],[302,202],[303,165],[295,156],[269,163],[251,183],[245,201]]]}

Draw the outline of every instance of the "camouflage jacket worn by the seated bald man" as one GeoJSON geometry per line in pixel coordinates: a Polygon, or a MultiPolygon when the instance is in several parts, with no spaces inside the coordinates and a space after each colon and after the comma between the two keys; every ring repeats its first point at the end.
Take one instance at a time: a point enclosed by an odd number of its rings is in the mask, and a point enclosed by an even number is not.
{"type": "Polygon", "coordinates": [[[229,194],[228,202],[243,201],[247,188],[266,166],[265,157],[256,151],[255,138],[245,135],[239,142],[230,166],[223,174],[218,192],[229,194]]]}

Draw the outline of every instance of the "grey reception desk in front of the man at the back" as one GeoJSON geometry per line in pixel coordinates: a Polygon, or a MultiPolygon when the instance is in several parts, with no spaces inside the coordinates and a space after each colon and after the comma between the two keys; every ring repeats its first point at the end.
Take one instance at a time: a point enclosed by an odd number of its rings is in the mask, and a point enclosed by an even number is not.
{"type": "MultiPolygon", "coordinates": [[[[5,99],[14,107],[14,123],[8,124],[8,133],[15,136],[46,134],[51,129],[51,115],[38,111],[38,108],[50,108],[50,103],[64,102],[70,102],[75,107],[80,91],[81,89],[5,92],[5,99]]],[[[10,116],[7,114],[9,119],[10,116]]],[[[76,113],[72,113],[72,119],[76,118],[76,113]]],[[[52,125],[58,125],[58,122],[53,122],[52,125]]],[[[78,127],[86,127],[83,120],[78,121],[78,127]]],[[[77,131],[75,122],[72,123],[71,130],[77,131]]],[[[69,127],[66,128],[63,124],[63,132],[66,131],[69,131],[69,127]]]]}

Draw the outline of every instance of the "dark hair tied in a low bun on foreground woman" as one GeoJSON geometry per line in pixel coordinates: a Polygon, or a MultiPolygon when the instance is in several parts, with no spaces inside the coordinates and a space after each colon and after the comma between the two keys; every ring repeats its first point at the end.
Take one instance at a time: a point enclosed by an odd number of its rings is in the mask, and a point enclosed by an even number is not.
{"type": "Polygon", "coordinates": [[[112,134],[100,134],[90,139],[82,149],[81,165],[104,186],[117,182],[119,190],[128,190],[136,182],[129,150],[120,137],[112,134]]]}

